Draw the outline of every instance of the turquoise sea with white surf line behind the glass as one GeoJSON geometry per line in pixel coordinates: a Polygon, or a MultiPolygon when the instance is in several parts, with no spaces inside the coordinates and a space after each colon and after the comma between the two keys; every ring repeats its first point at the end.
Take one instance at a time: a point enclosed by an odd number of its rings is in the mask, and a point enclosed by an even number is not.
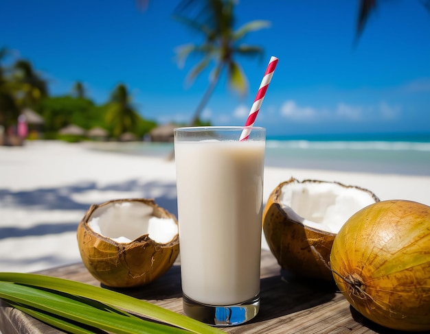
{"type": "MultiPolygon", "coordinates": [[[[106,143],[99,148],[126,154],[168,156],[172,143],[106,143]]],[[[430,176],[427,134],[267,135],[266,165],[300,169],[430,176]]]]}

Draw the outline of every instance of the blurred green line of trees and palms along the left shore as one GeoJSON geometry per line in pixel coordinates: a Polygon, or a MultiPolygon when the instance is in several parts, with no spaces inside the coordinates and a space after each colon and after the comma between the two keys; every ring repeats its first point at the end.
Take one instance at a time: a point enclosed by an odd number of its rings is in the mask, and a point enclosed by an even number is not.
{"type": "Polygon", "coordinates": [[[105,104],[95,104],[87,97],[84,85],[76,82],[69,95],[50,96],[47,82],[33,69],[28,60],[16,60],[5,66],[3,60],[10,51],[0,49],[0,126],[16,126],[18,117],[30,108],[43,117],[43,138],[58,139],[65,126],[76,125],[84,130],[102,128],[118,139],[130,132],[137,138],[157,126],[144,119],[131,102],[124,84],[118,84],[105,104]]]}

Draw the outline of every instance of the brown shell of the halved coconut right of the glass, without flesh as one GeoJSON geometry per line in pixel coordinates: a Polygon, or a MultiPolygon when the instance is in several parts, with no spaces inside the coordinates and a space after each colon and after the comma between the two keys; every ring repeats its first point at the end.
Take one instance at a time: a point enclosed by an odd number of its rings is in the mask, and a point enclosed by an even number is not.
{"type": "MultiPolygon", "coordinates": [[[[269,249],[284,270],[288,270],[304,278],[317,278],[324,281],[334,281],[330,271],[330,251],[336,234],[305,226],[302,222],[291,218],[282,208],[280,195],[285,184],[299,182],[295,178],[282,182],[273,189],[263,212],[263,231],[269,249]]],[[[317,182],[319,180],[304,180],[300,183],[317,182]]],[[[339,182],[329,182],[346,186],[339,182]]],[[[367,189],[354,187],[369,193],[375,202],[379,199],[367,189]]]]}

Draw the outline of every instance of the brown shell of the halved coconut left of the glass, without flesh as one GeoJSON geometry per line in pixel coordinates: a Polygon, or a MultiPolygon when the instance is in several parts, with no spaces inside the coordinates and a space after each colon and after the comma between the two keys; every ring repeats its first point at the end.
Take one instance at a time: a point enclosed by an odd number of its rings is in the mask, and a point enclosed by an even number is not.
{"type": "Polygon", "coordinates": [[[118,243],[99,235],[89,227],[91,215],[97,208],[130,201],[152,206],[153,216],[173,219],[178,224],[174,215],[153,200],[113,200],[100,205],[93,204],[78,225],[80,256],[94,278],[109,287],[146,285],[163,275],[179,254],[178,235],[168,243],[157,243],[148,235],[142,235],[130,243],[118,243]]]}

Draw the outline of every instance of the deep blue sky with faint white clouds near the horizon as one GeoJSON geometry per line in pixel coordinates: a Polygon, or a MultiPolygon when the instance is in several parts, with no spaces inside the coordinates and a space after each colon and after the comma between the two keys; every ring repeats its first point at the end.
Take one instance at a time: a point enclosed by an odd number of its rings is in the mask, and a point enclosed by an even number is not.
{"type": "MultiPolygon", "coordinates": [[[[0,0],[0,47],[30,60],[51,95],[76,81],[104,103],[126,84],[133,103],[159,123],[189,121],[209,83],[192,85],[196,63],[179,68],[174,49],[199,43],[172,19],[179,0],[0,0]]],[[[237,58],[246,97],[221,80],[203,112],[214,125],[243,125],[270,56],[279,58],[256,126],[270,135],[430,132],[430,12],[420,0],[381,0],[353,46],[358,1],[240,0],[236,27],[262,19],[268,29],[244,43],[264,47],[262,60],[237,58]]]]}

